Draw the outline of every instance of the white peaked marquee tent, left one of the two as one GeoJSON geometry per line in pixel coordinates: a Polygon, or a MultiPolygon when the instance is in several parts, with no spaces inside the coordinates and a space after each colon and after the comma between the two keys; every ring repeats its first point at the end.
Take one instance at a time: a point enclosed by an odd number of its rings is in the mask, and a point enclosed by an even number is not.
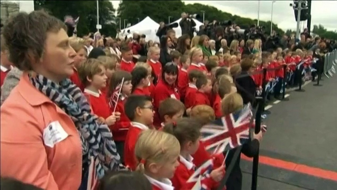
{"type": "Polygon", "coordinates": [[[134,26],[128,27],[126,29],[121,30],[122,34],[125,36],[132,36],[133,33],[141,33],[145,34],[145,40],[154,40],[159,41],[159,38],[156,36],[156,32],[159,28],[159,24],[153,21],[150,17],[144,18],[142,21],[137,23],[134,26]],[[129,33],[128,33],[129,31],[129,33]]]}

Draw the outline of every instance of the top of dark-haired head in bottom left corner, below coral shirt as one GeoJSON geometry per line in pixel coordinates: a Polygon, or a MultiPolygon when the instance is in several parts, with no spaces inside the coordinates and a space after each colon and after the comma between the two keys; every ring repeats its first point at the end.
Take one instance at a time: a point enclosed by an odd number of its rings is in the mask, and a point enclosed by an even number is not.
{"type": "Polygon", "coordinates": [[[0,180],[1,190],[42,190],[41,188],[35,187],[30,184],[25,184],[21,181],[11,178],[3,178],[0,180]]]}

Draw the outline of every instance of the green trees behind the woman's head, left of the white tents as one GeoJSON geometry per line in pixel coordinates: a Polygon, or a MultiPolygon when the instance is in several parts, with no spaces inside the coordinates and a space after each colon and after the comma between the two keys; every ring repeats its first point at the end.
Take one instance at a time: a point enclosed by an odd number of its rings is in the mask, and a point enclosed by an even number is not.
{"type": "MultiPolygon", "coordinates": [[[[77,25],[78,36],[96,31],[97,9],[96,0],[34,0],[35,10],[45,9],[55,17],[63,20],[64,16],[80,17],[77,25]]],[[[101,33],[115,35],[115,9],[109,0],[99,0],[99,20],[101,33]]]]}

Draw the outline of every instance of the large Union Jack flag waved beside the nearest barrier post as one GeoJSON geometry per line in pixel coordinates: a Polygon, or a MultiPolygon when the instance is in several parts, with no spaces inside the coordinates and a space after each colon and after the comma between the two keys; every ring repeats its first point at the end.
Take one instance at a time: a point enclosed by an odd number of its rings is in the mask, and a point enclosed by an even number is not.
{"type": "Polygon", "coordinates": [[[201,141],[211,154],[220,154],[244,144],[250,138],[252,106],[221,118],[222,125],[208,124],[201,128],[201,141]]]}

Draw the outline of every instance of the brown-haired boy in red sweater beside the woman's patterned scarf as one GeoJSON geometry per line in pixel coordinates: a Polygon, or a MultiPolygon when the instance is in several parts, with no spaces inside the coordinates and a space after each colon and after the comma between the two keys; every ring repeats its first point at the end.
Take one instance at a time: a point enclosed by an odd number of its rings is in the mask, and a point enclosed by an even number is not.
{"type": "Polygon", "coordinates": [[[96,59],[88,59],[79,67],[79,76],[84,85],[84,95],[87,97],[92,112],[104,121],[109,128],[119,119],[120,113],[111,113],[105,94],[100,89],[107,84],[105,67],[96,59]]]}

